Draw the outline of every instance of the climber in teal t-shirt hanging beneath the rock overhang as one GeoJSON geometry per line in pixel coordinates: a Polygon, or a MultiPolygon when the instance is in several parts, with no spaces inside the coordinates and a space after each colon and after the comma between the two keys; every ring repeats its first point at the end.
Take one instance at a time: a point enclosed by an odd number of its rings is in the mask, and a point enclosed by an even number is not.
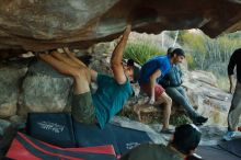
{"type": "Polygon", "coordinates": [[[111,67],[113,77],[97,73],[89,69],[73,53],[64,48],[65,54],[51,52],[50,54],[37,55],[42,60],[51,65],[60,73],[71,76],[73,83],[73,99],[71,113],[76,121],[94,124],[99,123],[103,128],[105,124],[122,110],[133,89],[129,82],[131,68],[123,67],[123,52],[126,46],[130,25],[127,25],[120,41],[115,47],[111,67]],[[97,90],[91,93],[90,83],[96,82],[97,90]]]}

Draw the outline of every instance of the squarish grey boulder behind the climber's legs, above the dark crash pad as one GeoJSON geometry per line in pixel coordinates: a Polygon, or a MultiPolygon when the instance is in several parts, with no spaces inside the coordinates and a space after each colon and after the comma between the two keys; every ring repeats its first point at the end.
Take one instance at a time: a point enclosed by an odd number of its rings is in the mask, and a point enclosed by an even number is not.
{"type": "Polygon", "coordinates": [[[72,82],[44,61],[32,62],[22,83],[18,114],[62,112],[70,106],[72,82]]]}

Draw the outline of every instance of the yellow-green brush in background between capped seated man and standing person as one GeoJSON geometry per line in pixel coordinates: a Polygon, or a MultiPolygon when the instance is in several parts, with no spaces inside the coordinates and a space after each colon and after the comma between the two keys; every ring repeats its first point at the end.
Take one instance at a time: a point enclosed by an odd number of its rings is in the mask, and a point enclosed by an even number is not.
{"type": "Polygon", "coordinates": [[[221,35],[217,38],[209,38],[202,32],[193,33],[182,31],[179,43],[182,43],[191,70],[206,70],[217,77],[218,87],[227,90],[229,87],[227,66],[234,49],[241,46],[240,33],[221,35]],[[238,35],[238,36],[237,36],[238,35]]]}

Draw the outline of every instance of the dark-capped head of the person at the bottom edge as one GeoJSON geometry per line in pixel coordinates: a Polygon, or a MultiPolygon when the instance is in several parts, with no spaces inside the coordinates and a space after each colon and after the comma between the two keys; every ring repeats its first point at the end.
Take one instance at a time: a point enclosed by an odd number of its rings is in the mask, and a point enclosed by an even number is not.
{"type": "Polygon", "coordinates": [[[184,155],[190,155],[197,148],[202,133],[194,124],[181,125],[175,128],[174,139],[171,145],[184,155]]]}

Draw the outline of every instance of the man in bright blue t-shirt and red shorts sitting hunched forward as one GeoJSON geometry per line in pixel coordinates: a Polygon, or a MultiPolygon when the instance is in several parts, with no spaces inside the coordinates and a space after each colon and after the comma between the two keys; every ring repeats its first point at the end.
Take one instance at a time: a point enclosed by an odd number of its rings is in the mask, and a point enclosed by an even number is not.
{"type": "Polygon", "coordinates": [[[185,54],[181,48],[174,49],[170,55],[158,56],[141,67],[139,84],[144,92],[149,95],[149,104],[164,105],[163,112],[163,133],[170,133],[169,118],[171,115],[172,99],[164,92],[164,89],[158,84],[172,68],[173,65],[182,62],[185,54]]]}

